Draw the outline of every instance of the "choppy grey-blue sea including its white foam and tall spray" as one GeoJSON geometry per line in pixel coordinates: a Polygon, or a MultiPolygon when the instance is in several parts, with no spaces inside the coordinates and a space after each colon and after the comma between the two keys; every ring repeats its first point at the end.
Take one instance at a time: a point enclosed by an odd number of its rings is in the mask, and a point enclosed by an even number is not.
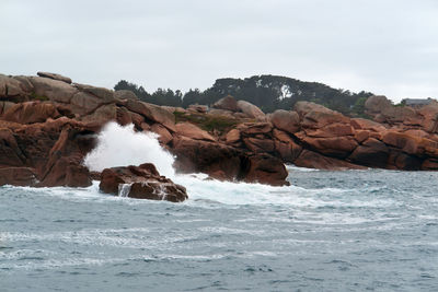
{"type": "Polygon", "coordinates": [[[148,159],[185,202],[99,182],[0,187],[0,291],[438,291],[438,173],[288,165],[287,187],[218,182],[172,173],[155,138],[110,125],[84,163],[148,159]]]}

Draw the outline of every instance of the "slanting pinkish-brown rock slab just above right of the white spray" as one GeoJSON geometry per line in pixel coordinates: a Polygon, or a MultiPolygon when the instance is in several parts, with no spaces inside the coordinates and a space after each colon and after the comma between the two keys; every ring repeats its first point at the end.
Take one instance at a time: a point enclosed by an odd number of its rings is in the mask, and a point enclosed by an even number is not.
{"type": "Polygon", "coordinates": [[[158,105],[128,100],[126,103],[126,108],[145,116],[149,120],[160,122],[173,132],[176,131],[175,116],[158,105]]]}

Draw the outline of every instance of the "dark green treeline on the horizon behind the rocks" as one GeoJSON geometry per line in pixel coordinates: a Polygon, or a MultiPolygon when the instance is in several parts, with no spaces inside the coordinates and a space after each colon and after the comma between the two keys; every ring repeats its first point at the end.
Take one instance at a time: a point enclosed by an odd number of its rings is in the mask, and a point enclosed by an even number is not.
{"type": "Polygon", "coordinates": [[[114,90],[130,90],[141,101],[148,103],[182,107],[191,104],[211,105],[227,95],[232,95],[235,100],[244,100],[258,106],[265,113],[291,109],[298,101],[308,101],[350,116],[361,116],[365,101],[372,95],[370,92],[353,93],[318,82],[304,82],[277,75],[218,79],[205,91],[195,89],[184,94],[180,90],[170,89],[158,89],[150,94],[142,86],[126,80],[119,81],[114,90]]]}

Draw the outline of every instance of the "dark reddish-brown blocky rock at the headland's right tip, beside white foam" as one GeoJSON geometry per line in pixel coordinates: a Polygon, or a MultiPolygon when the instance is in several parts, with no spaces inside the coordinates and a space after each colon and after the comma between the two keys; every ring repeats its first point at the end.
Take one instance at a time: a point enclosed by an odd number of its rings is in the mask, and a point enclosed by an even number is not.
{"type": "Polygon", "coordinates": [[[285,164],[268,154],[252,155],[249,157],[247,173],[244,180],[272,186],[288,186],[288,172],[285,164]]]}

